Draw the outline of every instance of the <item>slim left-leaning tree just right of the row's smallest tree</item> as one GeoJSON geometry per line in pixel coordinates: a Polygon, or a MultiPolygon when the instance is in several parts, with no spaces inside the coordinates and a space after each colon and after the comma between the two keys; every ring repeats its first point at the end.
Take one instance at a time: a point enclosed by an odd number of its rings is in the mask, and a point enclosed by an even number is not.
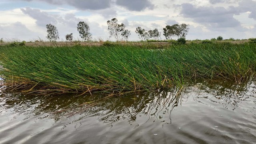
{"type": "Polygon", "coordinates": [[[92,34],[90,33],[90,27],[87,22],[79,22],[77,24],[77,30],[79,32],[80,37],[84,41],[89,41],[92,39],[92,34]]]}

